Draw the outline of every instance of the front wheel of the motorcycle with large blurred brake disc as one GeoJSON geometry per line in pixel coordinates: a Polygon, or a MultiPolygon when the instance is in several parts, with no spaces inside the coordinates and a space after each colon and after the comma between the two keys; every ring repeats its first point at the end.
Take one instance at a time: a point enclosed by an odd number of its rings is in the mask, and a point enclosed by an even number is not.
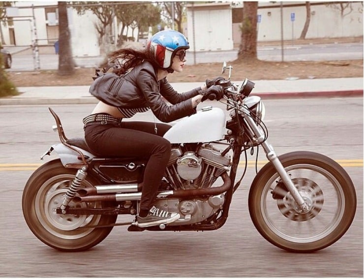
{"type": "Polygon", "coordinates": [[[268,163],[257,174],[249,192],[250,217],[260,234],[287,251],[311,252],[340,239],[356,211],[354,185],[346,171],[330,158],[313,152],[279,157],[308,212],[286,189],[268,163]]]}

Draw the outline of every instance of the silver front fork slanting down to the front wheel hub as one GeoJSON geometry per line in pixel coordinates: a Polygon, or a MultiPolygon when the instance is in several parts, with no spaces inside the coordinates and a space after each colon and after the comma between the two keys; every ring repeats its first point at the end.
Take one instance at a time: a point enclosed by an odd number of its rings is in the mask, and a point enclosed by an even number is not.
{"type": "Polygon", "coordinates": [[[252,129],[251,132],[254,133],[255,139],[257,142],[262,144],[264,151],[267,154],[267,159],[273,164],[274,168],[278,172],[280,178],[282,179],[284,185],[287,187],[288,191],[291,193],[294,200],[300,206],[302,213],[308,212],[309,207],[307,203],[304,201],[300,192],[297,190],[295,185],[293,184],[291,177],[288,175],[286,170],[284,169],[282,163],[279,161],[277,154],[273,150],[272,145],[270,145],[265,139],[265,135],[262,133],[261,129],[256,125],[254,119],[249,115],[244,117],[244,120],[247,122],[248,127],[252,129]]]}

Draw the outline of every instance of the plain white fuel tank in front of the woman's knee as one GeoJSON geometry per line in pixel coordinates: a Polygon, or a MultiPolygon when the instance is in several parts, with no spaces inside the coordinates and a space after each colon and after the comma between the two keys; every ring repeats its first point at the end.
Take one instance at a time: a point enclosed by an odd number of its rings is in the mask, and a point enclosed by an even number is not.
{"type": "Polygon", "coordinates": [[[225,134],[225,113],[219,108],[205,107],[184,117],[165,133],[171,143],[209,142],[222,140],[225,134]]]}

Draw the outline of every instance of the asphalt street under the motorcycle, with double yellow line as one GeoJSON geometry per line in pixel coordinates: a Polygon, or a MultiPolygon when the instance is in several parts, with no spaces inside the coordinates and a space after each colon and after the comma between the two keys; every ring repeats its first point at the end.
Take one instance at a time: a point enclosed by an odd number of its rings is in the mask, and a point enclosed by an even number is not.
{"type": "MultiPolygon", "coordinates": [[[[119,226],[89,251],[66,253],[49,248],[27,227],[21,195],[41,163],[40,155],[58,141],[51,130],[54,120],[46,106],[2,106],[0,276],[363,277],[363,98],[267,100],[265,105],[269,141],[278,154],[293,150],[323,153],[340,161],[354,182],[357,214],[347,233],[331,247],[296,254],[264,240],[247,210],[255,173],[249,167],[234,195],[229,219],[217,231],[131,233],[119,226]]],[[[68,138],[83,135],[81,120],[92,105],[52,108],[61,117],[68,138]]],[[[153,121],[149,113],[138,118],[153,121]]],[[[258,161],[263,160],[261,151],[258,161]]]]}

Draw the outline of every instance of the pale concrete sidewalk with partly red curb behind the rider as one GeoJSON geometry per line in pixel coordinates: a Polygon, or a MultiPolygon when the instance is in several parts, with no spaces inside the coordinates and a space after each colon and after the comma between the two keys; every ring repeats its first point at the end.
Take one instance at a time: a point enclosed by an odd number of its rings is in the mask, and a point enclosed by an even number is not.
{"type": "MultiPolygon", "coordinates": [[[[363,78],[254,81],[251,95],[262,99],[363,97],[363,78]]],[[[242,82],[234,81],[242,84],[242,82]]],[[[173,83],[178,92],[188,91],[201,83],[173,83]]],[[[0,105],[96,104],[90,86],[18,87],[18,96],[0,98],[0,105]]]]}

